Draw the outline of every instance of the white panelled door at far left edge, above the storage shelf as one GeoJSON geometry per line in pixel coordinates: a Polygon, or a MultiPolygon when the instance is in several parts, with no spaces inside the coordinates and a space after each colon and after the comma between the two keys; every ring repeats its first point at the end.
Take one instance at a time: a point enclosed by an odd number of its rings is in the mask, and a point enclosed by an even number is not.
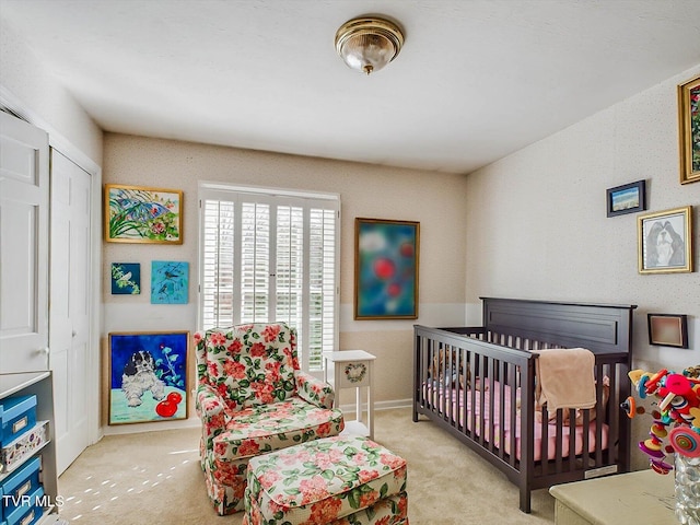
{"type": "Polygon", "coordinates": [[[48,370],[48,135],[0,112],[0,373],[48,370]]]}

